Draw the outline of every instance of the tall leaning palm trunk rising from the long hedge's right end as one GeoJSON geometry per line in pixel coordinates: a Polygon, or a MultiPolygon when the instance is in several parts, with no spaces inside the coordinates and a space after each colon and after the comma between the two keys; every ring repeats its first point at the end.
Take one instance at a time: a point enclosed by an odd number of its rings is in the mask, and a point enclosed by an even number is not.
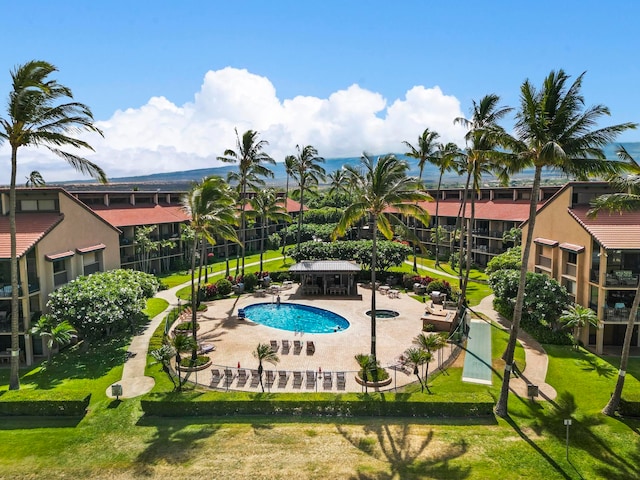
{"type": "Polygon", "coordinates": [[[509,333],[509,342],[507,349],[502,358],[504,359],[504,374],[502,377],[502,388],[500,389],[500,397],[496,403],[495,412],[500,417],[506,417],[508,414],[509,404],[509,380],[511,370],[513,368],[513,355],[516,350],[516,342],[518,340],[518,330],[520,329],[520,320],[522,319],[522,307],[524,305],[524,289],[527,281],[527,265],[529,263],[529,255],[531,246],[533,245],[533,230],[536,225],[536,210],[538,206],[538,195],[540,192],[540,180],[542,177],[542,167],[536,166],[533,177],[533,186],[531,187],[531,201],[529,203],[529,223],[527,225],[527,238],[522,251],[522,267],[520,268],[520,280],[518,282],[518,294],[516,295],[516,304],[513,309],[513,320],[511,321],[511,331],[509,333]]]}

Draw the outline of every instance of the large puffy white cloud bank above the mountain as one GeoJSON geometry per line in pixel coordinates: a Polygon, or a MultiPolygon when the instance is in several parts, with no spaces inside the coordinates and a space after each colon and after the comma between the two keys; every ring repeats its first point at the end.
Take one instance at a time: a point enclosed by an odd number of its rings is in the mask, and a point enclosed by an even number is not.
{"type": "MultiPolygon", "coordinates": [[[[413,143],[426,127],[462,145],[464,132],[453,125],[462,115],[460,102],[437,86],[415,86],[391,104],[357,84],[328,98],[280,100],[269,79],[227,67],[207,72],[193,102],[178,106],[153,97],[99,121],[104,139],[87,137],[96,152],[86,156],[111,178],[219,166],[216,156],[235,149],[235,128],[260,132],[277,161],[296,144],[312,144],[325,158],[402,152],[402,141],[413,143]]],[[[2,158],[8,154],[7,145],[0,147],[2,158]]],[[[47,181],[81,178],[45,148],[21,149],[18,160],[18,181],[36,169],[47,181]]],[[[0,183],[7,184],[9,171],[2,170],[0,183]]]]}

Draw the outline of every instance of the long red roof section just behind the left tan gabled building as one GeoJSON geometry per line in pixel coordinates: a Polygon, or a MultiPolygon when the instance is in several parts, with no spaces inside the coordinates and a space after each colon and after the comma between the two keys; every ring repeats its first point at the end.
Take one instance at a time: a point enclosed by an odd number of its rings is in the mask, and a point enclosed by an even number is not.
{"type": "Polygon", "coordinates": [[[178,205],[126,205],[117,208],[95,205],[92,208],[114,227],[187,222],[190,219],[178,205]]]}

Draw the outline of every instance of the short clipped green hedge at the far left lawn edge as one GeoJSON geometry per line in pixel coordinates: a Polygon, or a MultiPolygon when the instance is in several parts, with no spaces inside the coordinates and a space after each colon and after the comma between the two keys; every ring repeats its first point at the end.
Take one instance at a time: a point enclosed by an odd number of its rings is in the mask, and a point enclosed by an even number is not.
{"type": "Polygon", "coordinates": [[[91,399],[91,395],[84,394],[58,394],[55,398],[40,397],[42,395],[36,395],[29,390],[5,392],[0,397],[0,415],[82,417],[91,399]]]}

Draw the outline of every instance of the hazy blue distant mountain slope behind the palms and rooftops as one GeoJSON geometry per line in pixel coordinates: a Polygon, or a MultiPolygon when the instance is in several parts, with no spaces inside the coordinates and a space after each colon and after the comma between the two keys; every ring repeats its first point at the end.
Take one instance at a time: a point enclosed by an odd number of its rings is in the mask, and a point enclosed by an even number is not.
{"type": "MultiPolygon", "coordinates": [[[[618,148],[618,145],[619,144],[612,144],[608,145],[605,148],[605,154],[607,158],[617,158],[615,152],[618,148]]],[[[640,159],[640,142],[623,143],[622,145],[634,158],[640,159]]],[[[410,175],[418,176],[419,169],[416,160],[405,157],[402,154],[396,155],[400,158],[404,158],[409,162],[410,175]]],[[[357,166],[359,163],[360,157],[328,158],[325,160],[323,166],[327,173],[330,173],[341,169],[344,165],[357,166]]],[[[275,166],[272,166],[270,168],[274,173],[274,178],[268,179],[267,184],[269,186],[284,187],[287,180],[284,163],[279,162],[275,166]]],[[[235,171],[236,169],[236,165],[225,165],[222,167],[200,168],[197,170],[184,170],[178,172],[154,173],[150,175],[140,175],[135,177],[112,178],[110,179],[111,183],[107,186],[93,184],[91,183],[91,181],[64,182],[61,183],[61,185],[64,185],[65,188],[69,190],[86,190],[89,184],[91,185],[92,189],[122,188],[131,190],[132,188],[139,188],[141,190],[155,190],[160,188],[163,190],[186,190],[193,182],[198,182],[204,177],[207,177],[209,175],[218,175],[226,178],[227,173],[235,171]]],[[[523,171],[522,173],[514,176],[512,180],[515,183],[526,183],[526,181],[531,178],[533,178],[533,169],[523,171]]],[[[434,186],[438,181],[438,170],[433,165],[426,165],[423,172],[423,179],[428,186],[434,186]]],[[[547,172],[547,174],[545,175],[545,179],[547,181],[557,182],[563,182],[566,180],[566,178],[563,178],[557,172],[547,172]]],[[[459,177],[455,173],[447,173],[443,177],[443,184],[445,186],[453,187],[460,185],[462,182],[464,182],[464,180],[464,178],[459,177]]],[[[491,184],[493,182],[495,182],[495,179],[492,179],[491,177],[487,177],[485,179],[486,184],[491,184]]]]}

